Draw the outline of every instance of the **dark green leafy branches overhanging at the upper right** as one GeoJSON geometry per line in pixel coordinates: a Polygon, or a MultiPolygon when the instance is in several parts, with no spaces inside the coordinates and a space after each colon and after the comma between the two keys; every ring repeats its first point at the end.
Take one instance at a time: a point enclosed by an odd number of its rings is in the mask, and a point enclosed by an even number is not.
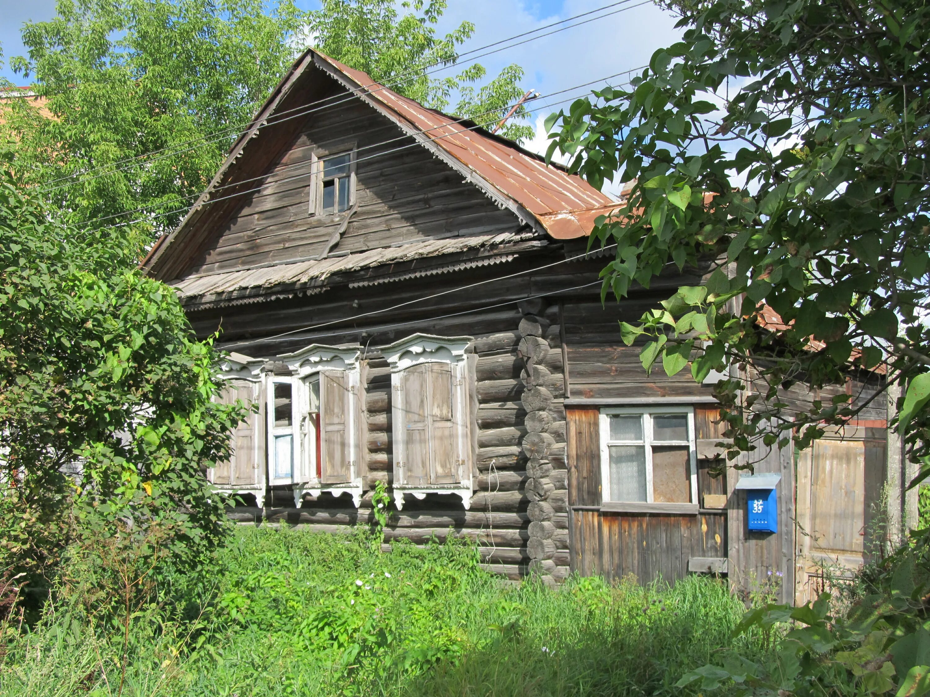
{"type": "MultiPolygon", "coordinates": [[[[604,294],[674,264],[709,274],[623,326],[648,369],[743,368],[717,383],[738,450],[806,446],[870,400],[786,409],[799,381],[843,386],[886,359],[910,381],[906,441],[927,455],[930,8],[884,0],[674,0],[683,40],[629,89],[607,88],[548,122],[555,148],[600,186],[631,182],[592,242],[616,243],[604,294]],[[781,322],[764,317],[774,309],[781,322]],[[738,392],[758,377],[750,400],[738,392]],[[923,376],[922,376],[923,375],[923,376]],[[742,407],[751,407],[742,411],[742,407]]],[[[844,390],[839,390],[844,391],[844,390]]],[[[881,394],[881,392],[879,393],[881,394]]],[[[902,418],[901,426],[907,419],[902,418]]],[[[926,472],[924,470],[924,475],[926,472]]]]}

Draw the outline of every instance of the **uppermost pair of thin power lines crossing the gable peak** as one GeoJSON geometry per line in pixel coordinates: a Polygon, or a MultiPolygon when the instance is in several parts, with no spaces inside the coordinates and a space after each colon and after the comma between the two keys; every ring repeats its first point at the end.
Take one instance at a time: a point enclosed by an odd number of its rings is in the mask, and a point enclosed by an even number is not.
{"type": "MultiPolygon", "coordinates": [[[[581,18],[581,17],[586,17],[586,16],[591,15],[591,14],[594,14],[594,13],[596,13],[596,12],[601,12],[601,11],[603,11],[604,9],[610,9],[611,7],[617,7],[618,5],[625,5],[625,4],[630,3],[630,2],[632,2],[632,0],[620,0],[620,1],[617,2],[617,3],[613,3],[613,4],[611,4],[611,5],[606,5],[606,6],[604,6],[604,7],[598,7],[598,8],[596,8],[596,9],[590,10],[590,11],[588,11],[588,12],[583,12],[583,13],[580,13],[580,14],[575,15],[575,16],[573,16],[573,17],[566,18],[565,20],[559,20],[559,21],[556,21],[556,22],[552,22],[551,24],[547,24],[547,25],[545,25],[545,26],[543,26],[543,27],[539,27],[538,29],[532,30],[532,31],[530,31],[530,32],[525,32],[525,33],[521,33],[521,34],[516,34],[516,35],[514,35],[514,36],[512,36],[512,37],[509,37],[509,38],[507,38],[507,39],[501,39],[500,41],[495,42],[495,43],[493,43],[493,44],[488,44],[488,45],[486,45],[486,46],[481,46],[481,47],[479,47],[479,48],[472,49],[472,51],[467,51],[466,53],[461,54],[460,56],[456,57],[457,62],[455,62],[455,63],[450,63],[450,64],[448,64],[448,65],[444,65],[444,66],[442,66],[442,67],[440,67],[440,68],[437,68],[437,69],[434,70],[434,71],[428,71],[428,72],[426,72],[426,74],[429,75],[429,74],[432,74],[432,73],[434,73],[434,72],[440,72],[440,71],[446,70],[446,69],[449,68],[449,67],[459,66],[459,65],[461,65],[461,64],[458,63],[458,59],[461,59],[461,58],[464,57],[464,56],[468,56],[469,54],[474,53],[474,52],[476,52],[476,51],[481,51],[481,50],[484,50],[485,48],[489,48],[489,47],[491,47],[491,46],[498,46],[499,44],[503,44],[503,43],[505,43],[505,42],[513,41],[514,39],[522,38],[522,37],[524,37],[524,36],[526,36],[526,35],[528,35],[528,34],[530,34],[530,33],[537,33],[537,32],[540,32],[540,31],[542,31],[542,30],[544,30],[544,29],[548,29],[548,28],[550,28],[550,27],[556,26],[556,25],[558,25],[558,24],[564,24],[564,23],[567,22],[567,21],[577,20],[577,19],[579,19],[579,18],[581,18]]],[[[604,19],[604,18],[606,18],[606,17],[610,17],[610,16],[612,16],[612,15],[618,14],[619,12],[625,12],[625,11],[627,11],[627,10],[629,10],[629,9],[633,9],[633,8],[635,8],[635,7],[641,7],[641,6],[643,6],[643,5],[648,4],[649,2],[651,2],[651,0],[644,0],[644,2],[640,2],[640,3],[636,4],[636,5],[631,6],[631,7],[620,7],[619,9],[613,10],[613,11],[611,11],[611,12],[606,12],[606,13],[604,13],[603,15],[599,15],[598,17],[593,17],[593,18],[590,18],[590,19],[588,19],[588,20],[584,20],[584,21],[577,22],[577,23],[575,23],[575,24],[571,24],[571,25],[569,25],[569,26],[561,27],[560,29],[554,30],[554,31],[552,31],[552,32],[539,34],[538,36],[532,36],[532,37],[530,37],[530,38],[525,39],[524,41],[518,42],[518,43],[516,43],[516,44],[512,44],[512,45],[510,45],[510,46],[502,46],[502,47],[497,48],[497,49],[495,49],[495,50],[493,50],[493,51],[488,51],[488,52],[483,53],[483,54],[480,54],[480,55],[478,55],[478,56],[474,56],[472,59],[469,59],[469,60],[466,61],[466,62],[472,62],[473,60],[480,59],[480,58],[484,58],[485,56],[490,56],[490,55],[495,54],[495,53],[498,53],[498,52],[500,52],[500,51],[502,51],[502,50],[506,50],[506,49],[508,49],[508,48],[514,48],[514,47],[516,47],[516,46],[522,46],[522,45],[524,45],[524,44],[526,44],[526,43],[528,43],[528,42],[530,42],[530,41],[536,41],[537,39],[544,38],[544,37],[546,37],[546,36],[551,36],[552,34],[555,34],[555,33],[564,32],[565,30],[573,29],[573,28],[575,28],[575,27],[581,26],[582,24],[587,24],[587,23],[589,23],[589,22],[591,22],[591,21],[602,20],[602,19],[604,19]]],[[[429,67],[435,66],[435,65],[437,65],[439,62],[442,62],[442,60],[435,61],[435,62],[433,62],[432,64],[428,64],[428,65],[425,66],[425,67],[429,68],[429,67]]],[[[414,77],[419,77],[419,75],[414,74],[414,72],[417,71],[417,70],[419,70],[419,69],[411,69],[410,71],[407,71],[406,73],[402,73],[402,76],[405,75],[405,74],[411,74],[411,79],[414,78],[414,77]]],[[[359,92],[365,91],[366,94],[374,94],[374,93],[379,92],[379,91],[382,90],[382,89],[389,89],[389,88],[391,88],[392,86],[403,85],[404,82],[405,82],[404,80],[395,80],[395,81],[392,83],[392,85],[380,85],[377,89],[372,89],[372,90],[365,90],[365,87],[359,87],[358,90],[354,90],[354,89],[353,89],[353,90],[350,90],[353,94],[350,94],[349,96],[334,95],[334,96],[332,96],[332,97],[327,97],[327,98],[324,98],[324,99],[317,99],[317,100],[314,100],[314,101],[309,102],[309,103],[307,103],[307,104],[303,104],[303,105],[301,105],[301,106],[299,106],[299,107],[295,107],[294,109],[287,110],[286,112],[279,112],[278,114],[276,114],[276,116],[279,117],[279,118],[277,118],[277,120],[269,121],[269,122],[267,122],[267,123],[265,123],[265,124],[259,125],[259,128],[262,128],[262,127],[264,127],[264,126],[266,126],[266,125],[280,124],[280,123],[283,123],[283,122],[285,122],[285,121],[289,121],[290,119],[299,118],[300,116],[304,116],[304,115],[310,114],[310,113],[312,113],[312,112],[322,111],[323,109],[327,109],[327,108],[330,108],[330,107],[338,106],[339,104],[343,103],[344,101],[346,101],[346,100],[348,100],[348,99],[352,99],[352,97],[354,96],[354,92],[356,92],[356,91],[359,91],[359,92]],[[332,99],[338,99],[338,100],[335,101],[334,103],[326,104],[327,101],[330,101],[330,100],[332,100],[332,99]],[[318,105],[318,104],[322,104],[323,106],[318,106],[318,107],[313,108],[313,109],[308,109],[308,107],[312,107],[313,105],[318,105]],[[299,111],[299,110],[307,110],[307,111],[302,111],[302,112],[301,112],[301,111],[299,111]],[[299,113],[294,113],[294,114],[292,114],[292,115],[290,115],[290,116],[287,116],[286,118],[280,118],[281,116],[284,116],[285,114],[290,113],[290,112],[299,112],[299,113]]],[[[242,138],[242,136],[244,136],[244,135],[248,132],[249,128],[251,128],[251,126],[254,125],[255,123],[256,123],[255,120],[250,121],[248,127],[246,127],[246,130],[243,130],[243,131],[241,131],[241,132],[238,132],[237,139],[238,139],[238,138],[242,138]]],[[[258,130],[258,129],[256,129],[256,130],[258,130]]],[[[97,179],[97,178],[100,178],[100,177],[106,177],[107,175],[111,175],[111,174],[117,174],[117,173],[119,173],[119,172],[126,171],[126,169],[129,169],[129,168],[131,168],[131,167],[133,167],[133,166],[137,166],[137,164],[134,164],[133,161],[134,161],[134,160],[137,160],[137,159],[139,159],[139,158],[141,158],[141,157],[149,157],[150,155],[158,154],[159,152],[168,151],[168,150],[171,150],[172,148],[179,148],[179,147],[181,147],[181,146],[183,146],[183,145],[188,145],[188,144],[191,144],[191,143],[203,143],[203,144],[208,144],[208,143],[216,142],[216,141],[218,141],[218,140],[221,140],[221,139],[226,138],[228,135],[233,134],[233,133],[235,133],[235,132],[236,132],[236,131],[235,131],[235,129],[233,129],[233,128],[227,129],[226,131],[218,131],[217,133],[211,134],[211,135],[209,135],[209,136],[204,136],[204,137],[201,137],[201,138],[193,138],[192,140],[184,141],[184,142],[179,143],[179,144],[174,145],[174,146],[167,146],[166,148],[162,148],[161,150],[152,151],[152,152],[145,153],[145,154],[142,154],[142,155],[136,155],[135,157],[126,158],[125,160],[120,160],[120,161],[117,161],[116,163],[112,163],[112,164],[102,164],[102,165],[100,165],[99,167],[95,167],[95,168],[91,168],[91,169],[86,169],[86,170],[84,170],[83,172],[80,172],[80,173],[75,173],[75,174],[73,174],[73,175],[67,175],[67,176],[65,176],[65,177],[52,179],[52,180],[50,180],[50,181],[48,182],[48,184],[54,184],[54,183],[56,183],[56,182],[58,182],[58,181],[62,181],[62,180],[64,180],[64,179],[75,178],[75,177],[82,177],[82,176],[84,176],[84,175],[86,175],[86,174],[89,174],[89,173],[91,173],[91,172],[100,172],[100,170],[107,169],[107,171],[102,172],[102,173],[100,173],[100,174],[98,174],[98,175],[96,175],[96,176],[94,176],[94,177],[84,178],[84,179],[81,180],[81,181],[83,181],[83,182],[92,181],[92,180],[94,180],[94,179],[97,179]],[[216,137],[216,138],[214,138],[214,137],[216,137]],[[212,138],[212,139],[211,139],[211,138],[212,138]],[[131,163],[131,164],[126,164],[126,166],[123,166],[123,167],[117,167],[117,166],[116,166],[116,165],[118,165],[118,164],[125,164],[125,163],[131,163]],[[115,169],[110,169],[111,167],[116,167],[116,168],[115,168],[115,169]]],[[[168,152],[166,155],[163,155],[163,156],[161,156],[161,157],[153,158],[152,160],[149,160],[149,161],[147,161],[147,162],[145,162],[145,163],[140,163],[140,164],[153,164],[154,162],[158,162],[158,161],[164,160],[164,159],[166,159],[166,158],[168,158],[168,157],[173,157],[173,156],[179,155],[179,154],[181,154],[181,153],[183,153],[183,152],[188,152],[188,151],[192,151],[192,150],[195,150],[195,148],[188,148],[188,149],[186,149],[186,150],[179,150],[179,151],[168,152]]],[[[80,182],[73,182],[73,183],[80,183],[80,182]]],[[[65,187],[72,186],[73,183],[60,184],[59,186],[55,186],[55,187],[46,186],[46,187],[41,188],[41,189],[39,189],[39,190],[37,190],[37,191],[40,192],[40,193],[45,193],[45,192],[48,192],[48,191],[58,191],[58,190],[63,189],[63,188],[65,188],[65,187]]]]}

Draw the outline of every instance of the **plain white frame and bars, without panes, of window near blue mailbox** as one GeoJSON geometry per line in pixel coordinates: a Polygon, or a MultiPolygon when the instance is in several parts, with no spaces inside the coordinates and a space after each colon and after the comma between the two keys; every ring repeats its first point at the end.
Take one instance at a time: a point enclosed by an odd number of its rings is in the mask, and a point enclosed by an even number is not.
{"type": "Polygon", "coordinates": [[[688,506],[697,513],[697,446],[695,441],[695,415],[690,406],[668,407],[605,407],[600,413],[601,431],[601,492],[604,504],[615,506],[629,506],[631,509],[639,506],[649,506],[657,511],[661,508],[677,510],[688,506]],[[684,414],[687,417],[687,438],[676,441],[658,441],[654,438],[653,417],[671,414],[684,414]],[[610,438],[610,417],[618,415],[638,415],[642,417],[643,438],[638,441],[614,441],[610,438]],[[634,445],[642,446],[645,455],[645,493],[644,502],[615,501],[611,498],[610,488],[610,446],[634,445]],[[690,484],[690,502],[664,503],[656,502],[653,483],[653,448],[663,446],[684,446],[688,449],[688,476],[690,484]]]}

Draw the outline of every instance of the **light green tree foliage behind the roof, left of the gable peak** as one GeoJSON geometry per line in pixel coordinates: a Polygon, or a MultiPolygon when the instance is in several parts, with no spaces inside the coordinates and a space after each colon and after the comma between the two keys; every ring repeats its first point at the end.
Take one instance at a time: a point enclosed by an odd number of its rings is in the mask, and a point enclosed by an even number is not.
{"type": "MultiPolygon", "coordinates": [[[[9,61],[33,79],[44,104],[11,100],[0,138],[16,143],[26,182],[73,223],[105,228],[146,218],[131,228],[140,250],[171,230],[182,215],[173,211],[213,178],[294,59],[287,38],[303,15],[290,0],[267,15],[261,0],[56,7],[52,20],[25,24],[28,58],[9,61]],[[140,208],[144,214],[119,215],[140,208]]],[[[126,239],[122,228],[104,234],[126,239]]]]}

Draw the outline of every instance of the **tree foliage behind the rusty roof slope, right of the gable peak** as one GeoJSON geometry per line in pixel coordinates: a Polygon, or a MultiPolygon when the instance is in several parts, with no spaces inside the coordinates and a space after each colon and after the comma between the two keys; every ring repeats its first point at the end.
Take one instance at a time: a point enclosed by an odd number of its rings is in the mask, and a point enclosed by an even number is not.
{"type": "MultiPolygon", "coordinates": [[[[431,77],[431,72],[456,64],[458,46],[474,33],[472,22],[463,21],[453,32],[436,36],[432,25],[442,17],[446,4],[446,0],[404,2],[401,6],[408,11],[398,18],[393,0],[323,0],[323,7],[310,13],[309,32],[327,56],[367,72],[375,82],[405,97],[446,111],[449,99],[458,92],[458,117],[496,125],[523,96],[519,84],[525,72],[509,65],[478,89],[474,84],[487,74],[478,63],[455,76],[431,77]]],[[[532,138],[532,126],[518,123],[526,113],[521,106],[500,135],[518,142],[532,138]]]]}

